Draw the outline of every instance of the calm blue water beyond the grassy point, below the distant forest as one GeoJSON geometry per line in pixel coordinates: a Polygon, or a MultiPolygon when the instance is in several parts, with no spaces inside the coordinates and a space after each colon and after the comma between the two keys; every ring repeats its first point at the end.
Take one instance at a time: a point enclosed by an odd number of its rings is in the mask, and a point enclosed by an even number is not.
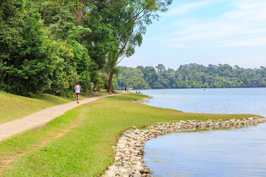
{"type": "Polygon", "coordinates": [[[150,106],[187,113],[256,114],[266,116],[266,88],[252,89],[150,89],[150,106]],[[164,93],[164,94],[163,94],[164,93]]]}

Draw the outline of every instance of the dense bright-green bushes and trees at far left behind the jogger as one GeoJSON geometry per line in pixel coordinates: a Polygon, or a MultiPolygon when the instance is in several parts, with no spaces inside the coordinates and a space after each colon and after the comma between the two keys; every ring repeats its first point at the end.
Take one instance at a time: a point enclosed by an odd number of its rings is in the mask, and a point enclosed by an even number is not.
{"type": "Polygon", "coordinates": [[[91,90],[98,71],[80,43],[90,29],[71,12],[52,0],[0,0],[0,89],[69,95],[79,81],[84,92],[91,90]]]}

